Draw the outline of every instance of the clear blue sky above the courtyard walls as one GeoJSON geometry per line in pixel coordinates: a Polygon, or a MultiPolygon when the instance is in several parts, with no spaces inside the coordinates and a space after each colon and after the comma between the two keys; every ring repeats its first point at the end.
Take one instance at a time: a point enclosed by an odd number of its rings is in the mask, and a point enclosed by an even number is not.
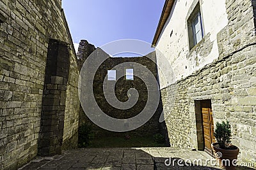
{"type": "Polygon", "coordinates": [[[164,0],[62,1],[77,48],[81,39],[102,46],[118,39],[152,43],[164,0]]]}

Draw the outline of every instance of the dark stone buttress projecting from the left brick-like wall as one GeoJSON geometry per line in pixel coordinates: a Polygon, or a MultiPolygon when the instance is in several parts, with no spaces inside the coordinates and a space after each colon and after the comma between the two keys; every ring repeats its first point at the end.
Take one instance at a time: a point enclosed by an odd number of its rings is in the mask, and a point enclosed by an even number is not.
{"type": "Polygon", "coordinates": [[[50,40],[48,46],[38,143],[38,153],[46,156],[61,153],[70,64],[66,43],[50,40]]]}

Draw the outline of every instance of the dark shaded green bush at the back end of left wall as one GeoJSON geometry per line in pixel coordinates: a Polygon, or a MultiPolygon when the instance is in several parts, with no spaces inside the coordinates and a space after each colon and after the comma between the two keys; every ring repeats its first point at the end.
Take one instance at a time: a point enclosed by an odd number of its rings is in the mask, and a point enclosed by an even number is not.
{"type": "Polygon", "coordinates": [[[86,148],[90,145],[93,138],[92,126],[88,124],[81,124],[78,128],[78,147],[86,148]]]}

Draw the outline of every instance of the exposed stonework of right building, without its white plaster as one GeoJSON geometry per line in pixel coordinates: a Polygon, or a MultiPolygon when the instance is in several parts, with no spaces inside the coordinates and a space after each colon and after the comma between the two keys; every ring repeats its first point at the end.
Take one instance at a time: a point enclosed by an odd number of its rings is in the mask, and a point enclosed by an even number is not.
{"type": "MultiPolygon", "coordinates": [[[[226,1],[228,23],[216,35],[214,43],[217,43],[218,51],[214,50],[211,54],[214,60],[161,90],[171,146],[200,148],[202,141],[198,140],[198,133],[202,129],[196,126],[200,122],[196,119],[195,105],[197,101],[210,99],[214,125],[221,120],[228,120],[232,127],[232,143],[241,150],[239,159],[256,162],[256,36],[252,3],[250,0],[226,1]],[[170,97],[173,95],[175,101],[172,103],[170,97]]],[[[203,19],[208,20],[205,17],[203,19]]],[[[207,22],[204,21],[205,27],[207,22]]],[[[175,25],[172,22],[169,24],[175,25]]],[[[214,27],[218,27],[218,24],[214,27]]],[[[209,57],[207,39],[209,36],[206,34],[200,44],[186,55],[191,59],[196,59],[198,54],[209,57]]],[[[161,39],[159,43],[164,44],[161,39]]],[[[177,50],[183,51],[182,48],[177,50]]],[[[175,56],[170,54],[172,57],[175,56]]]]}

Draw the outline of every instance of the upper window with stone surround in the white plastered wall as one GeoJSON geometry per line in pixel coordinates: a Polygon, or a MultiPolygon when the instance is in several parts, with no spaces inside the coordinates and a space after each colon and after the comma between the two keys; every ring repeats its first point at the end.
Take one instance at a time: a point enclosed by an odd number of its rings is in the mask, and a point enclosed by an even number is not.
{"type": "Polygon", "coordinates": [[[189,49],[191,50],[204,38],[202,17],[199,3],[188,18],[189,49]]]}

